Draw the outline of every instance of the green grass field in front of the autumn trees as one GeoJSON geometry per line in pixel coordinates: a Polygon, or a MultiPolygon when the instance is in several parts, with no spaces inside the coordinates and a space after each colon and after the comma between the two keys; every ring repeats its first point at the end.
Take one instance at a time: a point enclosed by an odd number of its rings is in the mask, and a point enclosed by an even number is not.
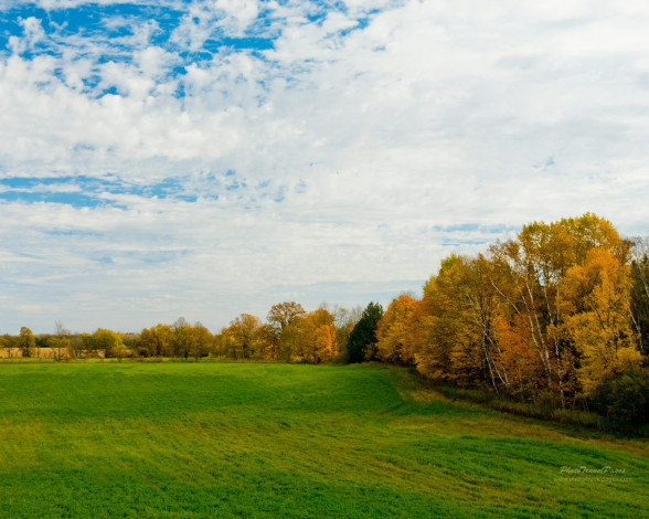
{"type": "Polygon", "coordinates": [[[649,517],[646,439],[382,367],[0,364],[0,432],[8,518],[649,517]]]}

